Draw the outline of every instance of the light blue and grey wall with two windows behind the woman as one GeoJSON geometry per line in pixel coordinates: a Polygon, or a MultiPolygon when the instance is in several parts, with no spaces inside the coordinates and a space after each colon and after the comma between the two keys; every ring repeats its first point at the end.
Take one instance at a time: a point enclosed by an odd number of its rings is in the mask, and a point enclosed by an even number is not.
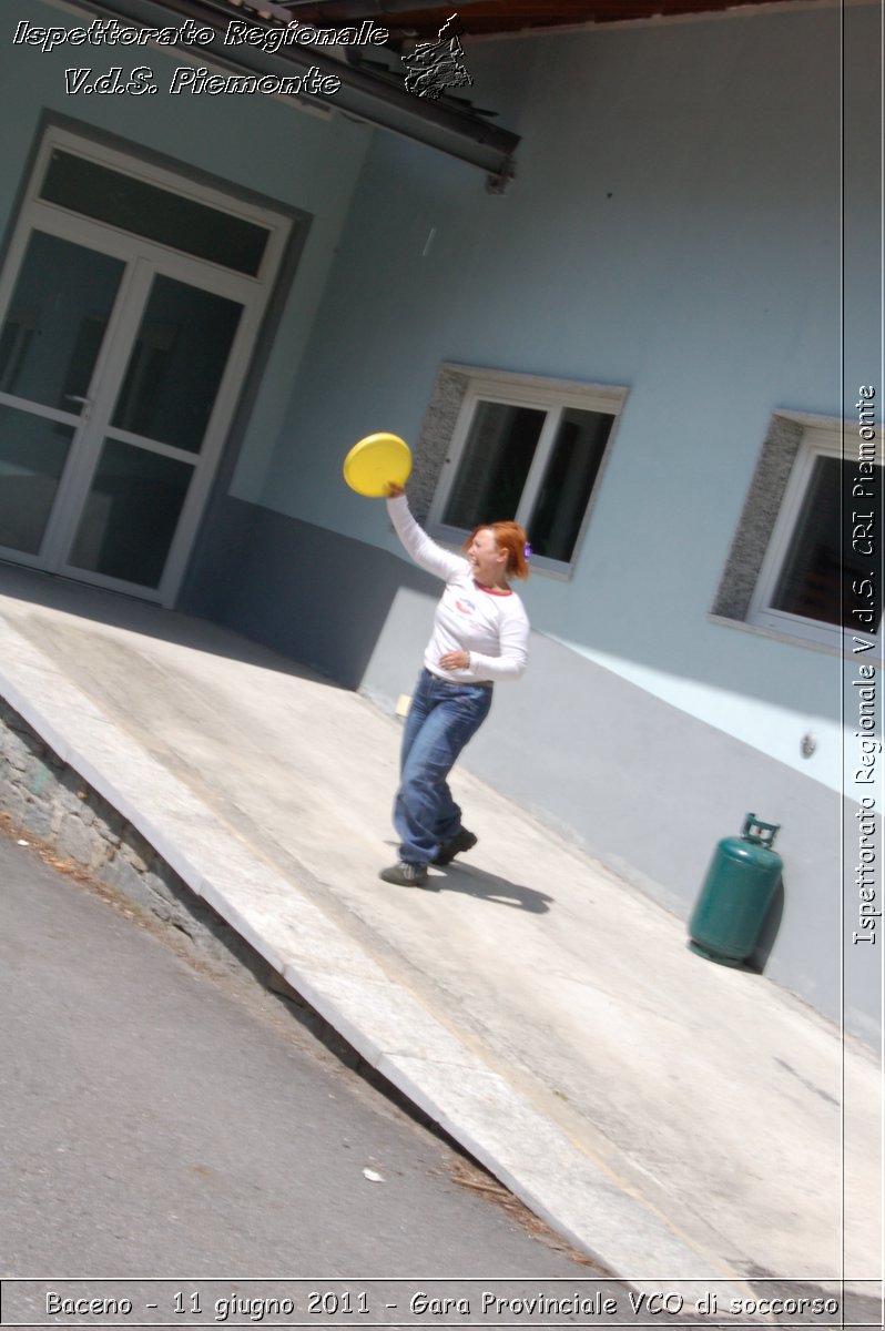
{"type": "MultiPolygon", "coordinates": [[[[846,41],[873,88],[874,8],[853,11],[846,41]]],[[[302,548],[349,587],[341,612],[374,638],[350,680],[391,705],[433,588],[399,564],[382,507],[342,486],[347,447],[381,429],[415,441],[443,361],[625,387],[574,575],[528,584],[532,668],[499,689],[466,761],[683,913],[745,812],[781,823],[767,972],[836,1016],[842,663],[711,608],[772,413],[838,418],[842,346],[861,363],[874,343],[874,302],[842,321],[840,12],[483,43],[470,63],[475,100],[523,136],[516,178],[490,194],[474,170],[375,136],[267,469],[275,516],[253,528],[254,568],[291,570],[302,548]]],[[[874,124],[858,108],[857,162],[874,124]]],[[[876,216],[874,173],[849,192],[876,216]]],[[[290,598],[334,669],[347,644],[318,623],[322,575],[297,580],[271,574],[262,607],[253,578],[248,610],[244,582],[234,618],[261,632],[290,598]]],[[[874,961],[846,961],[849,1024],[869,1033],[874,961]]]]}

